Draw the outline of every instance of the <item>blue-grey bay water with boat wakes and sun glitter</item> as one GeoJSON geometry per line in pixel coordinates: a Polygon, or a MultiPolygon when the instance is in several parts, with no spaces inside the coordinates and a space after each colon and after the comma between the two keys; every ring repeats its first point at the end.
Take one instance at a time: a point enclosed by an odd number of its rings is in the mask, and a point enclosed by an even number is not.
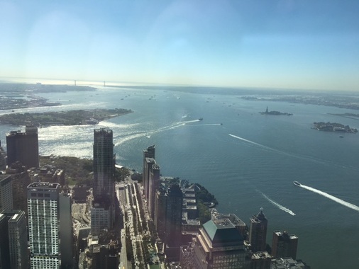
{"type": "MultiPolygon", "coordinates": [[[[359,134],[340,138],[311,129],[319,121],[359,129],[358,120],[328,114],[358,112],[205,92],[106,87],[46,93],[41,96],[62,106],[16,112],[131,109],[96,126],[43,127],[40,154],[92,158],[94,128],[109,127],[118,164],[142,171],[143,149],[155,144],[162,175],[204,185],[219,201],[219,212],[249,224],[263,207],[267,244],[272,231],[286,230],[299,237],[297,258],[311,268],[359,268],[359,134]],[[260,115],[267,106],[294,115],[260,115]]],[[[3,146],[6,132],[19,128],[0,126],[3,146]]]]}

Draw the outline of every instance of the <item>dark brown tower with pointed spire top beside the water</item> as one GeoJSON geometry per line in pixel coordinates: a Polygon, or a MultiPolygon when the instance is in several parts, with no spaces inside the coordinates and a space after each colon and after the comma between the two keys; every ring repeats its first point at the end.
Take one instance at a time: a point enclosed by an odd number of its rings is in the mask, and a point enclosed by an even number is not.
{"type": "Polygon", "coordinates": [[[263,208],[260,208],[257,215],[250,218],[249,242],[251,251],[265,251],[267,224],[268,220],[263,214],[263,208]]]}

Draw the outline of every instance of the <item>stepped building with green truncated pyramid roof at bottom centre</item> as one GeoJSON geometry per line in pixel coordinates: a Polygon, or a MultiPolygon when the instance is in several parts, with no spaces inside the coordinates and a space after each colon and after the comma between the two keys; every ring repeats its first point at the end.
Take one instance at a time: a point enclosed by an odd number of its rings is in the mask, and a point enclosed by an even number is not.
{"type": "Polygon", "coordinates": [[[232,222],[229,219],[211,219],[199,229],[193,248],[192,268],[246,268],[245,255],[243,236],[232,222]]]}

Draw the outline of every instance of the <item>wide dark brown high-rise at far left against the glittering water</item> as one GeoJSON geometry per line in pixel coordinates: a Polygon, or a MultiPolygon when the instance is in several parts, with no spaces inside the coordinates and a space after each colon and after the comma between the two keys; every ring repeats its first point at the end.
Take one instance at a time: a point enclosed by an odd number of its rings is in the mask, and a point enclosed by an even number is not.
{"type": "Polygon", "coordinates": [[[20,161],[26,168],[38,167],[38,128],[27,125],[25,132],[6,134],[7,165],[20,161]]]}

